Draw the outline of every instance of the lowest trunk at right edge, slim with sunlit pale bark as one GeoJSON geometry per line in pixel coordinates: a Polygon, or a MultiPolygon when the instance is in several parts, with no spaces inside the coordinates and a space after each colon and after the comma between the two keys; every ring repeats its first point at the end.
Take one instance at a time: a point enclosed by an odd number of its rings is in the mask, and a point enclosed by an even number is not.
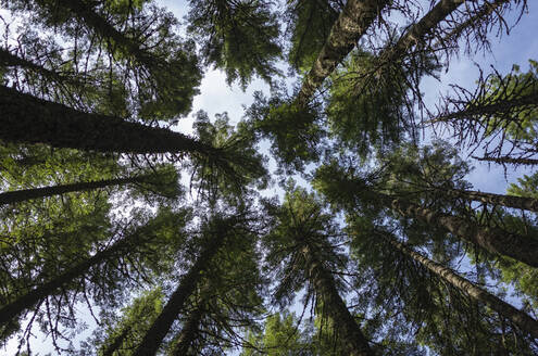
{"type": "Polygon", "coordinates": [[[413,250],[406,247],[403,243],[398,242],[392,238],[387,237],[387,239],[392,246],[422,264],[436,276],[440,277],[441,279],[452,284],[454,288],[470,295],[475,301],[486,304],[492,310],[499,313],[499,315],[510,320],[520,329],[528,332],[530,335],[533,335],[533,338],[538,339],[538,321],[529,317],[527,314],[495,296],[493,294],[483,290],[481,288],[478,288],[471,281],[455,274],[450,268],[447,268],[438,263],[433,262],[431,259],[424,257],[423,255],[414,252],[413,250]]]}

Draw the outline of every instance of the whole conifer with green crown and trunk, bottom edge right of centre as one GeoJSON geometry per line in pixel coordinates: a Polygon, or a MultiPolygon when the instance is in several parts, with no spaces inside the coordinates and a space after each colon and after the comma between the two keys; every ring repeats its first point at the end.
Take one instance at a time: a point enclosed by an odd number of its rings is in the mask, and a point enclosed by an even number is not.
{"type": "Polygon", "coordinates": [[[338,236],[330,217],[304,190],[288,188],[284,206],[275,214],[276,226],[267,237],[270,262],[276,264],[287,254],[285,270],[276,298],[290,297],[301,282],[309,282],[309,294],[315,293],[316,308],[335,329],[342,352],[347,355],[372,355],[367,340],[338,293],[331,270],[341,264],[330,249],[328,237],[338,236]]]}

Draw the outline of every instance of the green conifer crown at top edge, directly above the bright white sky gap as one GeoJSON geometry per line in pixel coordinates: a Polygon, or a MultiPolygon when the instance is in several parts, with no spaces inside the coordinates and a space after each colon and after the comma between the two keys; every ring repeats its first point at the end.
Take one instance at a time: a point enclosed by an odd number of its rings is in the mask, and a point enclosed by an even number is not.
{"type": "Polygon", "coordinates": [[[279,72],[279,25],[266,0],[190,0],[188,31],[201,46],[205,64],[245,89],[253,76],[272,84],[279,72]]]}

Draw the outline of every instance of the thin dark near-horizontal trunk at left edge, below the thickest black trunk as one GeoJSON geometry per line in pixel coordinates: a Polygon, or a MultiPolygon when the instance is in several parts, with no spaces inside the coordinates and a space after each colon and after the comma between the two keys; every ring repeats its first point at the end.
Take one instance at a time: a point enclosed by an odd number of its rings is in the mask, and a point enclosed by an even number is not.
{"type": "Polygon", "coordinates": [[[96,181],[83,181],[71,185],[60,185],[52,187],[9,191],[9,192],[0,193],[0,205],[13,204],[32,199],[53,196],[70,192],[80,192],[80,191],[88,191],[99,188],[111,187],[111,186],[122,186],[128,183],[142,182],[148,180],[148,178],[151,176],[153,175],[143,175],[137,177],[116,178],[116,179],[103,179],[96,181]]]}

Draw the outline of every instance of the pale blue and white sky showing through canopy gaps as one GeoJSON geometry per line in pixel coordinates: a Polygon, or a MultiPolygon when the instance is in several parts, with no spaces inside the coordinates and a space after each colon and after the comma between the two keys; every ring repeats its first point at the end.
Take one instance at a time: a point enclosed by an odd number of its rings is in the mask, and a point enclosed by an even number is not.
{"type": "MultiPolygon", "coordinates": [[[[161,0],[159,3],[168,8],[179,20],[187,13],[185,1],[161,0]]],[[[513,20],[509,21],[509,24],[512,23],[513,20]]],[[[538,60],[538,1],[528,1],[528,11],[512,28],[510,36],[504,34],[501,38],[492,38],[491,43],[490,53],[478,53],[472,58],[462,54],[459,60],[451,61],[449,71],[441,74],[440,81],[433,78],[425,79],[422,88],[426,102],[434,104],[439,93],[447,93],[449,84],[473,88],[479,73],[476,64],[479,64],[486,74],[489,73],[491,65],[501,74],[510,72],[513,64],[520,64],[522,72],[528,69],[528,59],[538,60]]],[[[210,117],[213,117],[216,113],[227,112],[232,122],[236,123],[243,116],[243,105],[249,106],[252,103],[252,94],[257,90],[262,90],[267,94],[268,86],[261,80],[254,80],[246,91],[242,91],[237,85],[227,86],[223,73],[210,69],[204,74],[200,94],[193,100],[192,113],[204,110],[210,117]]],[[[175,129],[190,134],[192,116],[189,116],[182,119],[175,129]]],[[[426,139],[428,140],[430,137],[426,139]]],[[[510,182],[515,182],[516,178],[530,173],[528,169],[520,167],[516,171],[509,169],[504,175],[502,167],[479,162],[473,162],[473,165],[475,169],[468,176],[468,181],[473,183],[475,190],[487,192],[504,193],[510,182]]],[[[87,319],[87,316],[84,319],[87,319]]],[[[38,333],[36,332],[36,334],[38,333]]],[[[88,333],[85,334],[88,335],[88,333]]],[[[41,343],[36,340],[33,341],[33,344],[34,349],[41,352],[41,355],[52,351],[49,343],[40,345],[41,343]]],[[[16,349],[15,343],[11,342],[5,349],[7,355],[13,354],[14,349],[16,349]]]]}

